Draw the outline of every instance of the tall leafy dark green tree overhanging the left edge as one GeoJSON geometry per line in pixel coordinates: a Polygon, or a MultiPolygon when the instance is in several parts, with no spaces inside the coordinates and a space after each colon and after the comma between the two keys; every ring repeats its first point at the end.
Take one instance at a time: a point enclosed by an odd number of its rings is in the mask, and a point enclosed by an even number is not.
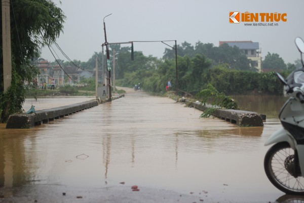
{"type": "MultiPolygon", "coordinates": [[[[0,83],[1,122],[5,122],[9,114],[22,111],[25,100],[24,82],[31,82],[37,74],[31,61],[39,56],[41,47],[56,41],[63,31],[65,19],[62,10],[51,0],[11,0],[10,9],[12,82],[6,92],[3,81],[0,83]]],[[[0,54],[0,77],[3,78],[2,51],[0,54]]]]}

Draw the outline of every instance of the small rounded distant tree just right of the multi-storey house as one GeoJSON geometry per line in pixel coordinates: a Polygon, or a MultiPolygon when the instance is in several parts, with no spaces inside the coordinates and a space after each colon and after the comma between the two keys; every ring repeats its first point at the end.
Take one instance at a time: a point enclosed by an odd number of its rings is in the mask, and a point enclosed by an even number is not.
{"type": "Polygon", "coordinates": [[[286,70],[286,64],[279,54],[269,53],[262,62],[263,69],[269,70],[286,70]]]}

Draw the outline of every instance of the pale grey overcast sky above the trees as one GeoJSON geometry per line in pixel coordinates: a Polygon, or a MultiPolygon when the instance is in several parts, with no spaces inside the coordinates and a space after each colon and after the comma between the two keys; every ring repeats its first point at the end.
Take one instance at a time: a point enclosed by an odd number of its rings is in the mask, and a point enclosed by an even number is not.
{"type": "MultiPolygon", "coordinates": [[[[264,58],[268,52],[278,53],[285,61],[300,58],[294,44],[296,37],[304,39],[304,1],[302,0],[52,0],[66,15],[64,32],[57,43],[70,59],[87,61],[94,52],[101,51],[105,42],[103,18],[109,43],[129,41],[177,40],[187,42],[219,41],[258,42],[264,58]],[[286,13],[287,21],[278,26],[245,26],[244,22],[229,23],[229,12],[286,13]]],[[[174,42],[168,42],[170,46],[174,42]]],[[[122,45],[130,46],[130,45],[122,45]]],[[[59,58],[67,61],[60,51],[59,58]]],[[[162,57],[161,42],[134,43],[134,51],[162,57]]],[[[47,48],[42,57],[54,61],[47,48]]]]}

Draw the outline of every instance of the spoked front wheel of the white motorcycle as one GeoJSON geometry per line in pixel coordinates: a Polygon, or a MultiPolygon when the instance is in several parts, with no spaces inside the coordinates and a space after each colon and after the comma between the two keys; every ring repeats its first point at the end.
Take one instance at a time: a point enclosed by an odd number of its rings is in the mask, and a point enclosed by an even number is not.
{"type": "Polygon", "coordinates": [[[298,160],[288,143],[273,145],[265,155],[264,170],[270,182],[286,194],[304,194],[304,178],[300,174],[298,160]],[[298,174],[294,173],[297,167],[298,174]]]}

